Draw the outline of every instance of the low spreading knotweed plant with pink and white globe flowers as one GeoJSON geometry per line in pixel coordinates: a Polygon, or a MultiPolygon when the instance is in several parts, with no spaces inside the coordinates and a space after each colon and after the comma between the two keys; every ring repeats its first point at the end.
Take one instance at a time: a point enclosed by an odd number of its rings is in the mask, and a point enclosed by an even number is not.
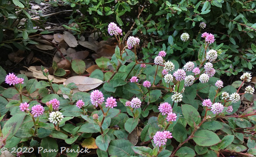
{"type": "MultiPolygon", "coordinates": [[[[199,26],[206,28],[204,22],[199,26]]],[[[118,44],[111,59],[96,62],[105,69],[90,74],[89,79],[100,83],[57,84],[44,67],[45,79],[40,81],[0,69],[5,76],[0,81],[11,86],[1,88],[1,149],[19,148],[16,156],[29,156],[32,152],[24,147],[42,147],[56,150],[52,157],[81,156],[84,148],[97,149],[102,157],[256,155],[255,102],[248,111],[240,106],[241,98],[253,98],[253,76],[243,73],[232,86],[220,79],[217,65],[224,50],[216,49],[221,42],[216,36],[205,32],[196,39],[192,33],[179,37],[184,45],[199,48],[196,61],[168,59],[163,46],[146,62],[136,53],[142,46],[140,35],[123,39],[114,22],[108,32],[118,44]],[[122,40],[127,44],[121,46],[122,40]],[[64,144],[74,151],[64,151],[64,144]]]]}

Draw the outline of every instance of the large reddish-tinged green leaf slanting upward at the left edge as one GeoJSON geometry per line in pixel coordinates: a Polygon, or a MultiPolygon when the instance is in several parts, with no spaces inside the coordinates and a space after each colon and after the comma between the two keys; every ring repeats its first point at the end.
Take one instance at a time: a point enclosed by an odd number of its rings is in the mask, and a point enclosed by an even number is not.
{"type": "Polygon", "coordinates": [[[24,113],[15,114],[5,123],[2,129],[2,140],[10,140],[13,135],[16,134],[16,132],[22,125],[25,116],[26,114],[24,113]]]}

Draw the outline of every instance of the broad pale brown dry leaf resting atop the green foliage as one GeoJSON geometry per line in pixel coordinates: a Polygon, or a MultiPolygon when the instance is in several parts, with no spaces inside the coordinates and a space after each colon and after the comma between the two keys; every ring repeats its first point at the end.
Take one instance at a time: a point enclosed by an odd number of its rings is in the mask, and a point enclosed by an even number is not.
{"type": "Polygon", "coordinates": [[[75,83],[79,91],[89,91],[97,88],[103,83],[100,79],[89,78],[87,76],[72,76],[65,81],[66,84],[75,83]]]}

